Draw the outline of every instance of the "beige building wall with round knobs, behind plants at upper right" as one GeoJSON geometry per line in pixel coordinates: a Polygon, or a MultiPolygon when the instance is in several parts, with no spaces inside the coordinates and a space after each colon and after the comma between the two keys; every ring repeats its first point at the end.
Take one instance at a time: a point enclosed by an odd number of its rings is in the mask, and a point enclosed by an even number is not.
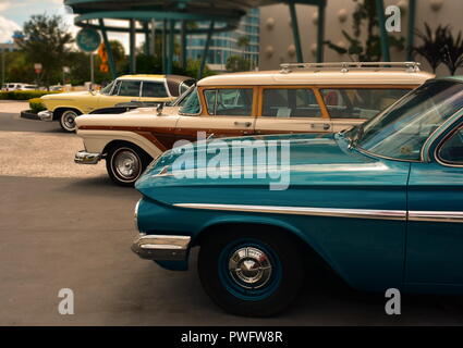
{"type": "MultiPolygon", "coordinates": [[[[373,1],[373,0],[371,0],[373,1]]],[[[352,34],[352,13],[357,2],[352,0],[328,0],[326,5],[325,40],[348,47],[349,41],[343,36],[342,30],[352,34]]],[[[407,39],[409,5],[410,0],[383,0],[385,8],[398,5],[401,9],[401,32],[394,33],[397,38],[407,39]]],[[[424,29],[424,24],[428,23],[435,29],[439,24],[450,25],[454,36],[460,30],[463,32],[461,13],[463,11],[462,0],[423,0],[415,1],[415,25],[418,30],[424,29]]],[[[316,61],[317,50],[317,21],[318,10],[313,5],[296,4],[298,20],[298,30],[302,42],[303,60],[305,62],[316,61]]],[[[365,29],[363,30],[365,33],[365,29]]],[[[421,40],[415,36],[414,44],[421,40]]],[[[339,54],[327,46],[322,51],[325,62],[351,61],[348,54],[339,54]]],[[[405,61],[407,54],[405,50],[399,51],[390,47],[391,61],[405,61]]],[[[293,32],[291,27],[290,9],[287,4],[271,4],[260,8],[260,70],[278,69],[283,62],[296,62],[293,32]],[[281,39],[276,39],[281,38],[281,39]]],[[[423,64],[423,69],[430,71],[426,60],[416,55],[415,60],[423,64]]],[[[463,74],[460,69],[458,74],[463,74]]],[[[437,70],[437,75],[449,75],[448,69],[442,64],[437,70]]]]}

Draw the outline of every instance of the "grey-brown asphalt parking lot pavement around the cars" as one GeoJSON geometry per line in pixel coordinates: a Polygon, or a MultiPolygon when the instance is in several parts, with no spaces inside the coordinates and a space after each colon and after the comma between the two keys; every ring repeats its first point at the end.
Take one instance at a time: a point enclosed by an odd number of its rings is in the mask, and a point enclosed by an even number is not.
{"type": "Polygon", "coordinates": [[[130,250],[139,195],[112,185],[105,163],[78,166],[75,135],[58,123],[19,117],[0,103],[0,325],[462,325],[461,297],[385,297],[353,291],[325,274],[307,278],[297,302],[271,319],[229,315],[200,287],[195,254],[170,272],[130,250]],[[74,293],[61,315],[58,293],[74,293]]]}

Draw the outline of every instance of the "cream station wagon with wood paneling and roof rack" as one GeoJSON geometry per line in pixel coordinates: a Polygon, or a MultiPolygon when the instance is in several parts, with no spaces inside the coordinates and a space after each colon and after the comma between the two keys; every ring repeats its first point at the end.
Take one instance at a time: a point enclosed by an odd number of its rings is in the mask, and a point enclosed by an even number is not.
{"type": "Polygon", "coordinates": [[[141,108],[76,119],[85,150],[76,163],[106,159],[118,184],[133,185],[176,140],[206,136],[333,133],[371,119],[434,75],[418,63],[282,64],[281,71],[199,80],[178,113],[141,108]]]}

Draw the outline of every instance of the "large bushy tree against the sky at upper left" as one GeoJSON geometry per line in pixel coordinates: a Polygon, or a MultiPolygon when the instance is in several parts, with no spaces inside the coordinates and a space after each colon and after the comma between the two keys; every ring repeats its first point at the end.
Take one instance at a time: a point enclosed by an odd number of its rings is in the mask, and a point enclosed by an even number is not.
{"type": "MultiPolygon", "coordinates": [[[[19,41],[20,47],[32,64],[41,63],[42,72],[38,83],[49,86],[61,80],[62,67],[68,64],[70,44],[74,42],[63,18],[59,15],[32,15],[24,23],[24,38],[19,41]]],[[[33,69],[33,66],[31,66],[33,69]]]]}

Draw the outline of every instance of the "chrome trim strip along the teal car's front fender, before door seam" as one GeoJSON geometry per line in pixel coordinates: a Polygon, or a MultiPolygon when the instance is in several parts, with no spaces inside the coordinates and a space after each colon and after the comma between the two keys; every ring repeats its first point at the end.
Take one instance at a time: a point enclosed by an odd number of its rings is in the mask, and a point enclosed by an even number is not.
{"type": "Polygon", "coordinates": [[[307,208],[307,207],[276,207],[276,206],[242,206],[242,204],[204,204],[176,203],[179,208],[224,210],[241,212],[258,212],[275,214],[294,214],[309,216],[333,216],[376,220],[406,220],[405,210],[374,210],[374,209],[340,209],[340,208],[307,208]]]}

